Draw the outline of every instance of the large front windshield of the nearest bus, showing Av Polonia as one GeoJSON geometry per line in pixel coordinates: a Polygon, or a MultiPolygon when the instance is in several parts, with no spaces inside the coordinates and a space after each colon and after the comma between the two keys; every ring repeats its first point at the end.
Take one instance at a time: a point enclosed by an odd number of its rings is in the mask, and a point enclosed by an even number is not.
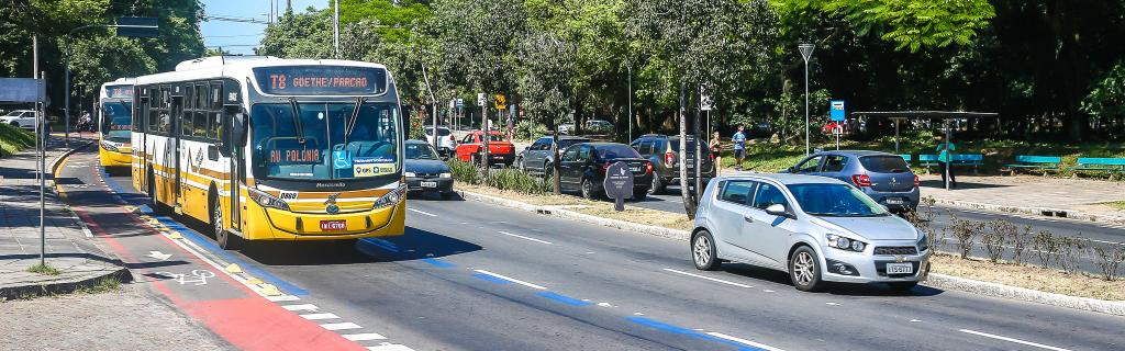
{"type": "Polygon", "coordinates": [[[397,172],[396,105],[363,104],[358,114],[354,109],[354,102],[254,105],[250,111],[254,177],[325,180],[397,172]]]}

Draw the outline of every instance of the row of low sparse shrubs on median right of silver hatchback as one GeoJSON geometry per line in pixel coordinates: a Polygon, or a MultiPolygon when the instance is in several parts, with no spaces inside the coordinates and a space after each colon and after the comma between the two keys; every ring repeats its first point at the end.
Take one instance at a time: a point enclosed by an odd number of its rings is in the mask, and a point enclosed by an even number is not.
{"type": "Polygon", "coordinates": [[[1061,236],[1050,231],[1033,233],[1029,226],[1020,228],[1008,220],[970,220],[957,218],[952,213],[948,214],[952,225],[938,231],[930,226],[930,220],[935,217],[934,199],[926,198],[922,202],[928,205],[925,206],[926,210],[909,214],[907,219],[926,234],[929,246],[936,252],[950,253],[945,250],[954,249],[953,254],[962,260],[969,260],[973,259],[970,253],[979,244],[987,255],[984,259],[991,264],[1036,267],[1068,276],[1095,277],[1105,281],[1122,278],[1120,267],[1125,263],[1125,245],[1096,243],[1082,237],[1081,234],[1061,236]],[[1027,262],[1027,255],[1032,254],[1038,259],[1038,264],[1027,262]],[[1096,274],[1081,270],[1083,260],[1089,260],[1097,267],[1096,274]]]}

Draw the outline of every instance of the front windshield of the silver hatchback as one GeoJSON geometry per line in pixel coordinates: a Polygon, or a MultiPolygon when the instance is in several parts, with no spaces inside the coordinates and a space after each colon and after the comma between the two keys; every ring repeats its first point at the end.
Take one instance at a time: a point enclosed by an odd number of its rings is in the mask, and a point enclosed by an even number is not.
{"type": "Polygon", "coordinates": [[[848,184],[788,184],[801,209],[824,217],[878,217],[886,210],[858,189],[848,184]]]}

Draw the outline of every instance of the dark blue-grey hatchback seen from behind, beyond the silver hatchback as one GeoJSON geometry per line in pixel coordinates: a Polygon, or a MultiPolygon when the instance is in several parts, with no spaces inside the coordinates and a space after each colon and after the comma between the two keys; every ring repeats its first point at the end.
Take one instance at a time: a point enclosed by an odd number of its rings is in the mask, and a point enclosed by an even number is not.
{"type": "Polygon", "coordinates": [[[821,151],[784,172],[843,180],[892,212],[918,208],[918,176],[900,155],[878,151],[821,151]]]}

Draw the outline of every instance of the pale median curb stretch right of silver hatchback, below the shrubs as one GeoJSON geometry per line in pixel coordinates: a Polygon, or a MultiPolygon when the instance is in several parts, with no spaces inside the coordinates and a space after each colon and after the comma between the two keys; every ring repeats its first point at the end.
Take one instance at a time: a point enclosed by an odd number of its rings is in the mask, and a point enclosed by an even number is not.
{"type": "Polygon", "coordinates": [[[1043,292],[1026,288],[1006,286],[994,282],[929,273],[926,285],[936,288],[960,290],[976,295],[1001,297],[1029,303],[1038,303],[1073,309],[1090,310],[1117,316],[1125,316],[1125,302],[1109,302],[1086,297],[1066,296],[1054,292],[1043,292]]]}

